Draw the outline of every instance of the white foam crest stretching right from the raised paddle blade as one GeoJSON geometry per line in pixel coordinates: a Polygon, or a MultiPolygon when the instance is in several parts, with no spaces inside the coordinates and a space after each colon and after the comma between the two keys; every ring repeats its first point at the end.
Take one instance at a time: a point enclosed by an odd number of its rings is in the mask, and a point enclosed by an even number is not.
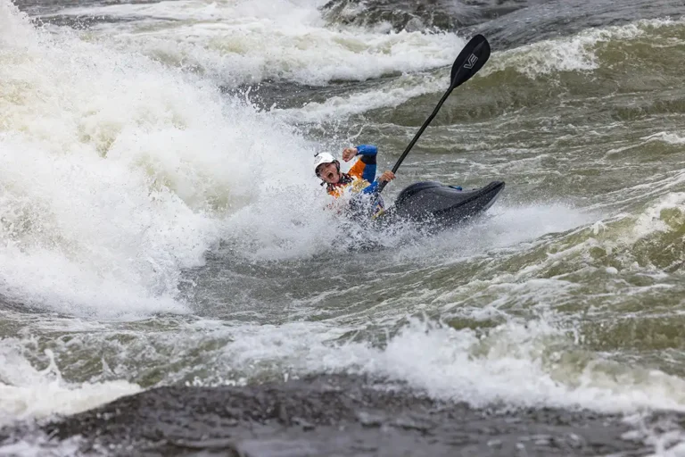
{"type": "Polygon", "coordinates": [[[636,21],[623,26],[585,29],[572,37],[544,40],[499,54],[483,74],[513,68],[531,79],[557,71],[592,71],[599,68],[597,45],[629,41],[646,35],[649,29],[682,24],[670,19],[636,21]]]}

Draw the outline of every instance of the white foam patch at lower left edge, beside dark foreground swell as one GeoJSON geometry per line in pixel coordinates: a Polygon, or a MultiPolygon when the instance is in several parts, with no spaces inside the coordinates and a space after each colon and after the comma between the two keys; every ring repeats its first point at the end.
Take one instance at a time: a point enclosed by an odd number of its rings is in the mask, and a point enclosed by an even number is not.
{"type": "Polygon", "coordinates": [[[36,370],[12,338],[0,345],[0,426],[16,420],[87,411],[141,389],[127,381],[71,384],[62,379],[52,353],[44,370],[36,370]]]}

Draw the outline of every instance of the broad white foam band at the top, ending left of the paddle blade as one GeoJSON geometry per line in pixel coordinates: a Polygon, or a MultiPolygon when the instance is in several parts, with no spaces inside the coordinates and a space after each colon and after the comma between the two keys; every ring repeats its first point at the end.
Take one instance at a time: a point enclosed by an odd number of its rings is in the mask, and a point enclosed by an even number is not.
{"type": "Polygon", "coordinates": [[[88,32],[172,65],[197,68],[222,84],[286,79],[322,85],[449,65],[464,40],[454,34],[326,27],[318,3],[267,0],[207,4],[114,4],[60,12],[135,17],[88,32]],[[149,19],[174,21],[153,26],[149,19]],[[127,33],[121,29],[127,28],[127,33]]]}

